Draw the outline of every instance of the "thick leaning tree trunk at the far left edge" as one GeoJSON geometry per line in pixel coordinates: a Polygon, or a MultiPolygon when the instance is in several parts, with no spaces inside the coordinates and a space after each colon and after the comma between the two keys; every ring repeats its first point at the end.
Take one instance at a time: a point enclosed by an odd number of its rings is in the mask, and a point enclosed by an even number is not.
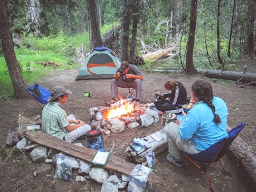
{"type": "Polygon", "coordinates": [[[22,77],[20,66],[14,52],[12,32],[8,21],[8,15],[6,13],[6,8],[6,2],[0,1],[0,36],[2,41],[4,58],[12,80],[15,98],[24,99],[29,97],[29,94],[26,91],[26,88],[28,86],[26,85],[26,82],[22,77]]]}

